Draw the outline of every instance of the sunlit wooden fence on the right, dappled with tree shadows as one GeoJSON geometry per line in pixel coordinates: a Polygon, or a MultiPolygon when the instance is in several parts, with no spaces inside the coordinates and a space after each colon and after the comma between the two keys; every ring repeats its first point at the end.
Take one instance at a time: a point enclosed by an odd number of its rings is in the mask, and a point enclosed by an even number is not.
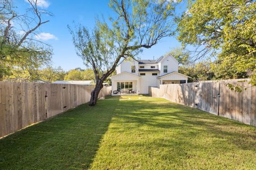
{"type": "Polygon", "coordinates": [[[149,92],[153,97],[162,97],[175,103],[256,126],[256,87],[252,87],[249,81],[249,79],[234,79],[163,84],[160,88],[149,87],[149,92]],[[244,90],[242,92],[230,90],[228,84],[240,86],[244,90]]]}

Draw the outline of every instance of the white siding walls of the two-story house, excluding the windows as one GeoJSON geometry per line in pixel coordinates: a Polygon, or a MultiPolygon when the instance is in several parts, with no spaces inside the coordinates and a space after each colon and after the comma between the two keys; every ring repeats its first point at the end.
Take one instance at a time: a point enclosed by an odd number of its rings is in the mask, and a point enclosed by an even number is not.
{"type": "MultiPolygon", "coordinates": [[[[149,61],[149,60],[148,60],[149,61]]],[[[150,62],[150,61],[149,61],[150,62]]],[[[147,63],[147,62],[145,62],[147,63]]],[[[117,82],[133,82],[133,90],[137,91],[137,94],[148,94],[148,87],[159,87],[159,84],[163,83],[165,80],[167,83],[179,83],[180,80],[186,80],[188,77],[183,74],[178,73],[178,61],[172,56],[166,56],[161,61],[156,64],[139,64],[138,61],[127,61],[124,60],[116,68],[117,75],[111,77],[112,81],[112,91],[117,90],[117,82]],[[135,73],[131,72],[132,65],[135,65],[135,73]],[[164,65],[167,65],[167,73],[163,72],[164,65]],[[152,75],[156,72],[138,72],[139,66],[144,66],[141,69],[151,69],[151,66],[156,66],[154,69],[158,69],[158,75],[152,75]],[[174,73],[171,73],[174,72],[174,73]],[[176,73],[177,72],[177,73],[176,73]],[[140,73],[145,73],[146,75],[140,75],[140,73]],[[169,74],[171,73],[171,74],[169,74]],[[167,75],[165,75],[167,74],[167,75]],[[159,76],[165,75],[161,78],[159,76]]]]}

